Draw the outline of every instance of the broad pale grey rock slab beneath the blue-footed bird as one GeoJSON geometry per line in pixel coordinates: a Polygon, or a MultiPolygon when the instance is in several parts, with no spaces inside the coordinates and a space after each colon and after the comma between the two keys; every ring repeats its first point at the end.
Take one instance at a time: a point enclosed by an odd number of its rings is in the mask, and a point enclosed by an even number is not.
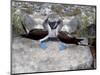
{"type": "MultiPolygon", "coordinates": [[[[87,43],[86,40],[84,40],[87,43]]],[[[69,45],[60,51],[59,42],[47,42],[45,50],[38,42],[16,37],[12,40],[12,73],[90,69],[93,61],[89,47],[69,45]]]]}

